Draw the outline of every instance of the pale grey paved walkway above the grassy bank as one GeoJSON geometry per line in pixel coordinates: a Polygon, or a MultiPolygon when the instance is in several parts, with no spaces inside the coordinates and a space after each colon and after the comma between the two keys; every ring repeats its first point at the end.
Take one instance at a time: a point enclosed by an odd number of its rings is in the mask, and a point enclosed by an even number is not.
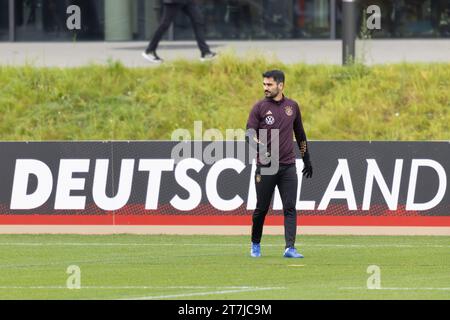
{"type": "MultiPolygon", "coordinates": [[[[210,41],[214,51],[234,51],[245,57],[254,53],[277,57],[285,63],[341,64],[342,43],[334,40],[210,41]]],[[[0,64],[74,67],[120,60],[127,66],[148,66],[141,52],[146,42],[0,42],[0,64]]],[[[357,42],[357,57],[366,64],[399,62],[450,62],[449,40],[368,40],[357,42]]],[[[161,42],[158,53],[170,61],[196,60],[195,42],[161,42]]]]}

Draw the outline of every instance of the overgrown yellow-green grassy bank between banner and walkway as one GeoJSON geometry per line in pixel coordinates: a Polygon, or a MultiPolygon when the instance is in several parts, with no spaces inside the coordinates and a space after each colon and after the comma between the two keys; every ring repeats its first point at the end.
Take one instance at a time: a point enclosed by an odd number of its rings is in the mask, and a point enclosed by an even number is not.
{"type": "Polygon", "coordinates": [[[1,140],[170,139],[177,128],[244,128],[261,73],[286,72],[310,140],[450,140],[450,64],[285,65],[224,54],[126,68],[0,67],[1,140]]]}

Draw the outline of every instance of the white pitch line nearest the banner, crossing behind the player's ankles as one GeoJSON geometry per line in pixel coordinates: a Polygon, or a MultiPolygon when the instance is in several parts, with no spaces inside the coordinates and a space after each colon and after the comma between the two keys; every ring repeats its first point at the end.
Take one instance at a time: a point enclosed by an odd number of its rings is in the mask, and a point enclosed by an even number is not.
{"type": "MultiPolygon", "coordinates": [[[[93,247],[247,247],[241,243],[97,243],[97,242],[0,242],[0,246],[46,247],[46,246],[93,246],[93,247]]],[[[282,247],[284,244],[262,244],[263,247],[282,247]]],[[[439,244],[327,244],[327,243],[298,243],[298,247],[331,247],[331,248],[450,248],[450,245],[439,244]]]]}

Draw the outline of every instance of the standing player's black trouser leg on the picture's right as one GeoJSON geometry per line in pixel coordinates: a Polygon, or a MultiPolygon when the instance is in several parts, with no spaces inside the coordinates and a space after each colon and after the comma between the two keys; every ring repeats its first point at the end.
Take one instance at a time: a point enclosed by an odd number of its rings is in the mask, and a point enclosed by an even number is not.
{"type": "Polygon", "coordinates": [[[283,202],[284,213],[284,237],[286,248],[295,246],[297,235],[297,203],[298,177],[295,165],[280,167],[278,176],[278,189],[283,202]]]}

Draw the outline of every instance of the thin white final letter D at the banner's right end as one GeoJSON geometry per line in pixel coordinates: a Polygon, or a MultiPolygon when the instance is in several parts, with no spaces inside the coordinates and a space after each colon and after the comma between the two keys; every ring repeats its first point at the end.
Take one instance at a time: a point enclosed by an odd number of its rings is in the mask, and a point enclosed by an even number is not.
{"type": "Polygon", "coordinates": [[[406,210],[429,210],[437,206],[444,198],[447,189],[447,175],[442,165],[434,160],[413,159],[411,164],[411,173],[409,176],[408,197],[406,199],[406,210]],[[439,187],[433,199],[425,203],[415,203],[417,175],[419,167],[430,167],[437,172],[439,178],[439,187]]]}

